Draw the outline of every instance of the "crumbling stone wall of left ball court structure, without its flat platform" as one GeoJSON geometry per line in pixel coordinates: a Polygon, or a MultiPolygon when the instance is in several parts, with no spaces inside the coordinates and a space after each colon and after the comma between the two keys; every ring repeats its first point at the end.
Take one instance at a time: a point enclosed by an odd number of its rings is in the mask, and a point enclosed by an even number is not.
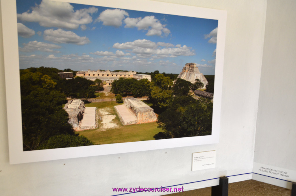
{"type": "Polygon", "coordinates": [[[66,103],[64,110],[66,110],[69,115],[68,123],[72,125],[74,129],[79,128],[79,123],[83,118],[85,110],[84,102],[80,99],[69,100],[66,103]]]}

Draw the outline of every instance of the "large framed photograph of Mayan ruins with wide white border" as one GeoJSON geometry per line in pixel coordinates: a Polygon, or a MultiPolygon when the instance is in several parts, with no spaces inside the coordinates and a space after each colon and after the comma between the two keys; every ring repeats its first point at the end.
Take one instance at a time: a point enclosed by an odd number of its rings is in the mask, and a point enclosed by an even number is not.
{"type": "Polygon", "coordinates": [[[11,164],[218,143],[226,11],[2,0],[11,164]]]}

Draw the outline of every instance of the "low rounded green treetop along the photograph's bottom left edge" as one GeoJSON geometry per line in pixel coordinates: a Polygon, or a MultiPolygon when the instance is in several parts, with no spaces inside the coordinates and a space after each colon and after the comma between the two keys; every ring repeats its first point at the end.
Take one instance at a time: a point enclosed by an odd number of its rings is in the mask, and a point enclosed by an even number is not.
{"type": "Polygon", "coordinates": [[[76,146],[90,146],[90,145],[94,145],[94,143],[84,136],[63,134],[63,135],[51,136],[48,140],[43,142],[38,147],[38,150],[67,148],[67,147],[76,147],[76,146]]]}

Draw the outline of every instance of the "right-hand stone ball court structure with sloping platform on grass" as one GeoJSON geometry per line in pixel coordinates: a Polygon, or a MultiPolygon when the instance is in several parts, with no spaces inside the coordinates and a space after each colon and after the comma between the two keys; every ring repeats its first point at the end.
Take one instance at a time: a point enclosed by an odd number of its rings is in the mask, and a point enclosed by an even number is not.
{"type": "Polygon", "coordinates": [[[114,106],[123,125],[150,123],[157,120],[154,110],[144,102],[127,97],[123,103],[123,105],[114,106]]]}

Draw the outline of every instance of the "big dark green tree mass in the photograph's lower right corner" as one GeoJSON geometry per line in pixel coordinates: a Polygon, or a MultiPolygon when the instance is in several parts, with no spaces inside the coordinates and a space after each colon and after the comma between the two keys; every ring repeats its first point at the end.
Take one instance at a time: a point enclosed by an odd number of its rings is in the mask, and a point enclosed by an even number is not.
{"type": "Polygon", "coordinates": [[[210,135],[212,130],[213,103],[207,99],[195,100],[189,96],[176,97],[158,116],[163,129],[155,139],[210,135]]]}

